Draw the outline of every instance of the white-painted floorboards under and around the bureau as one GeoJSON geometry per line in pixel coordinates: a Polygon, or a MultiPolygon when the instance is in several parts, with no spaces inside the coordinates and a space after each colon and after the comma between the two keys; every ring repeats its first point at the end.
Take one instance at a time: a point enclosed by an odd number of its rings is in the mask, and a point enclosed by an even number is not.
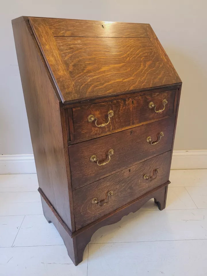
{"type": "Polygon", "coordinates": [[[97,230],[77,267],[43,216],[35,174],[0,175],[0,276],[207,275],[207,170],[172,170],[153,200],[97,230]]]}

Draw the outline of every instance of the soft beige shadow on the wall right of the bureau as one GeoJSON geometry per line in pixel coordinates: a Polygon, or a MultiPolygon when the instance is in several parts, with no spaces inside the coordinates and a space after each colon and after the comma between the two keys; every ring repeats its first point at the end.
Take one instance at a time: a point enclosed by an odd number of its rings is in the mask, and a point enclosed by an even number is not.
{"type": "Polygon", "coordinates": [[[207,149],[205,139],[201,139],[207,136],[206,64],[203,60],[192,60],[193,55],[187,56],[172,48],[165,49],[183,82],[174,150],[207,149]]]}

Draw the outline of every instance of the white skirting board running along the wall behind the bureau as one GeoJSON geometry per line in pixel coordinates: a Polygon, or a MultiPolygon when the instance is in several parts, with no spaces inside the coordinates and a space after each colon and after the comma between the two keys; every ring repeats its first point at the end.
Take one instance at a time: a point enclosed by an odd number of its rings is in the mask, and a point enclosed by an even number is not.
{"type": "MultiPolygon", "coordinates": [[[[171,170],[207,169],[207,150],[174,150],[171,170]]],[[[36,173],[33,154],[0,155],[0,174],[36,173]]]]}

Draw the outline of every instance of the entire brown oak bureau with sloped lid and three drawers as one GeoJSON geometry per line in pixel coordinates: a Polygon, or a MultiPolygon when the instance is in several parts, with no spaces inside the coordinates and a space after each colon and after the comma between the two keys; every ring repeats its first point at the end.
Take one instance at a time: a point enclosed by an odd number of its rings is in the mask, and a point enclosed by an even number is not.
{"type": "Polygon", "coordinates": [[[149,24],[12,26],[44,215],[77,265],[98,228],[165,208],[181,80],[149,24]]]}

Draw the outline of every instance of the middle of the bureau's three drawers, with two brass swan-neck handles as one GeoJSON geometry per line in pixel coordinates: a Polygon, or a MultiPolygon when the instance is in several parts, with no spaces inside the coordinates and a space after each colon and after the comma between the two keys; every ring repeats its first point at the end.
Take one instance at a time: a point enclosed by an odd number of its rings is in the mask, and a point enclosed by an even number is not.
{"type": "Polygon", "coordinates": [[[174,125],[175,116],[70,145],[68,149],[73,190],[171,150],[174,125]],[[164,133],[163,137],[159,136],[161,132],[164,133]],[[151,145],[147,142],[148,136],[152,137],[152,143],[158,143],[151,145]],[[114,154],[108,156],[110,150],[114,154]],[[98,166],[97,161],[92,162],[94,155],[99,158],[98,164],[107,164],[98,166]]]}

